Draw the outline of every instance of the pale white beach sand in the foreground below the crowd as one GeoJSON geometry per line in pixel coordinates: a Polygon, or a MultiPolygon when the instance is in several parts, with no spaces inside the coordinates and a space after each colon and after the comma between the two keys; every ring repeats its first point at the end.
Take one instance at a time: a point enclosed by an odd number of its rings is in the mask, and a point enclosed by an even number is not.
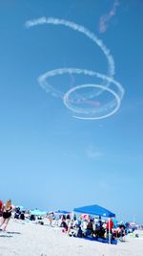
{"type": "Polygon", "coordinates": [[[58,227],[10,220],[8,232],[0,231],[0,256],[142,256],[143,239],[102,244],[68,237],[58,227]]]}

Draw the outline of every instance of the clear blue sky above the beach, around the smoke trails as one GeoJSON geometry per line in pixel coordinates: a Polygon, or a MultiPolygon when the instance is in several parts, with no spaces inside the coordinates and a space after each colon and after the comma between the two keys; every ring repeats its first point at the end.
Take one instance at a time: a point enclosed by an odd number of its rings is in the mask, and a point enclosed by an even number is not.
{"type": "MultiPolygon", "coordinates": [[[[0,1],[1,196],[44,210],[99,204],[119,220],[143,222],[143,3],[141,0],[0,1]],[[109,14],[112,13],[113,15],[109,14]],[[105,31],[99,30],[106,15],[105,31]],[[100,120],[72,117],[37,79],[57,68],[108,75],[101,49],[64,26],[26,28],[42,16],[70,20],[100,38],[125,89],[120,108],[100,120]]],[[[55,76],[53,86],[77,85],[55,76]],[[68,83],[68,84],[67,84],[68,83]]],[[[81,75],[82,83],[88,78],[81,75]]],[[[91,81],[90,81],[91,82],[91,81]]],[[[62,87],[61,87],[62,86],[62,87]]]]}

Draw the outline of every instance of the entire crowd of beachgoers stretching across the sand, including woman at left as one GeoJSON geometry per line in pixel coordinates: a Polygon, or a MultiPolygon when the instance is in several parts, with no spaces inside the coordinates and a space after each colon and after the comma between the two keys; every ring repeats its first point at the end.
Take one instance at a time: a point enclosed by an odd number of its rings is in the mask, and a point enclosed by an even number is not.
{"type": "MultiPolygon", "coordinates": [[[[15,220],[37,221],[44,224],[43,217],[34,216],[31,211],[12,205],[10,199],[5,203],[0,200],[0,230],[6,231],[11,216],[15,220]]],[[[101,217],[93,218],[87,214],[76,217],[72,213],[57,215],[54,212],[49,212],[46,214],[45,220],[49,221],[50,226],[62,227],[62,232],[69,236],[108,239],[110,234],[112,240],[123,239],[129,227],[128,223],[119,223],[115,218],[105,221],[101,217]]]]}

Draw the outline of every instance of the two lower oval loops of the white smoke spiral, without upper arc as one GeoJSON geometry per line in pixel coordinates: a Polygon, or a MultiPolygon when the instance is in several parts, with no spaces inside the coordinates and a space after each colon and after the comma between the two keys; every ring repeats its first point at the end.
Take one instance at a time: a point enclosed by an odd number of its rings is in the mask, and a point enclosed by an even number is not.
{"type": "MultiPolygon", "coordinates": [[[[61,94],[61,98],[63,99],[64,104],[71,109],[73,112],[76,113],[80,113],[80,114],[85,114],[84,117],[79,117],[79,116],[73,116],[76,117],[78,119],[85,119],[85,120],[94,120],[94,119],[102,119],[102,118],[106,118],[111,116],[112,114],[114,114],[118,108],[120,107],[121,104],[121,100],[124,96],[124,88],[122,87],[121,83],[119,83],[118,81],[114,81],[111,77],[107,77],[103,74],[94,72],[92,70],[87,70],[87,69],[79,69],[79,68],[59,68],[59,69],[54,69],[51,71],[46,72],[45,74],[43,74],[42,76],[39,77],[38,81],[41,85],[42,88],[44,88],[46,91],[52,90],[52,86],[45,82],[46,80],[48,80],[51,77],[54,76],[58,76],[58,75],[65,75],[65,74],[76,74],[76,75],[85,75],[85,76],[90,76],[93,78],[97,78],[103,81],[107,81],[110,83],[110,87],[107,87],[105,85],[101,85],[101,84],[82,84],[82,85],[78,85],[75,86],[73,88],[71,88],[66,94],[61,94]],[[81,107],[73,107],[71,106],[71,101],[70,101],[70,95],[72,94],[72,92],[75,92],[75,90],[78,90],[80,88],[88,88],[88,87],[95,87],[100,89],[100,93],[108,91],[110,92],[114,98],[115,101],[111,101],[109,104],[107,105],[103,105],[102,107],[96,107],[93,110],[87,111],[84,108],[81,107]],[[112,88],[111,88],[112,87],[112,88]],[[97,116],[96,114],[99,113],[100,111],[100,116],[97,116]],[[105,114],[105,112],[109,112],[107,114],[105,114]],[[86,115],[90,115],[90,117],[87,117],[86,115]],[[91,116],[92,115],[92,116],[91,116]]],[[[55,89],[54,89],[54,93],[55,93],[55,89]]],[[[59,94],[59,91],[56,91],[56,93],[59,94]]],[[[94,96],[99,96],[99,93],[97,92],[96,94],[94,94],[94,96]]]]}

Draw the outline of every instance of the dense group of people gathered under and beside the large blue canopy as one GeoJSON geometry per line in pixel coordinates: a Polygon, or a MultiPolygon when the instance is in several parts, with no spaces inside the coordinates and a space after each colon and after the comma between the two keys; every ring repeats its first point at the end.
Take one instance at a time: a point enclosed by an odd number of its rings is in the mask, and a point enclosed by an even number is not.
{"type": "Polygon", "coordinates": [[[67,217],[62,220],[61,226],[63,226],[63,232],[70,236],[108,239],[110,234],[111,239],[115,240],[123,239],[126,234],[125,225],[117,224],[115,218],[105,221],[100,217],[92,218],[89,215],[80,215],[78,219],[74,215],[71,220],[69,220],[69,216],[67,217]]]}

